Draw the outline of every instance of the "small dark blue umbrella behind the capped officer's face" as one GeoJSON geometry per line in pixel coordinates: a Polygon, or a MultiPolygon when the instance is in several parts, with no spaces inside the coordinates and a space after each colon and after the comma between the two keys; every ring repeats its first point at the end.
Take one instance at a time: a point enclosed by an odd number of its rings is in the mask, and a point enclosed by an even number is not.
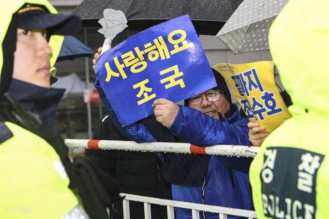
{"type": "Polygon", "coordinates": [[[57,61],[66,59],[74,59],[79,57],[93,57],[95,52],[86,44],[82,43],[73,36],[64,36],[62,47],[60,48],[60,55],[57,61]]]}

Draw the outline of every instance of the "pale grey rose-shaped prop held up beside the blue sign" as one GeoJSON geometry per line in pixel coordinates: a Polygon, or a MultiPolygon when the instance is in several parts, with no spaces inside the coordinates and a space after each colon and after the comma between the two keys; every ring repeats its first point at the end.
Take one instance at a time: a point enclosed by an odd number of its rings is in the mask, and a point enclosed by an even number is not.
{"type": "Polygon", "coordinates": [[[103,27],[99,29],[98,32],[104,34],[105,36],[101,53],[102,55],[111,46],[114,37],[128,27],[127,18],[122,11],[107,8],[104,10],[104,18],[99,19],[98,23],[100,23],[103,27]]]}

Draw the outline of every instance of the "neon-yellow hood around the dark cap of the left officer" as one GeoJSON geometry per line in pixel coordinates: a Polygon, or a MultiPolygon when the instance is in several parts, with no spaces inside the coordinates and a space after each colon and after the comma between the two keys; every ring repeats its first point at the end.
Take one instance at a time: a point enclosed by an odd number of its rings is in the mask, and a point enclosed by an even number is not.
{"type": "MultiPolygon", "coordinates": [[[[44,5],[50,13],[56,9],[47,0],[1,0],[0,8],[0,99],[8,90],[13,75],[14,52],[16,47],[17,11],[25,4],[44,5]]],[[[50,64],[53,66],[60,53],[63,36],[52,35],[49,46],[52,48],[50,64]]]]}

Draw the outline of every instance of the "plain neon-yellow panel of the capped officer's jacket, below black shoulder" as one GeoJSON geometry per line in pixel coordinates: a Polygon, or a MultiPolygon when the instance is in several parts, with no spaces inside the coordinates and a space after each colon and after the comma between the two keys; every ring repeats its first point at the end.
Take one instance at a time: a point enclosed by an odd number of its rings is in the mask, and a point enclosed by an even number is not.
{"type": "Polygon", "coordinates": [[[60,219],[73,209],[85,214],[54,148],[13,123],[2,123],[1,131],[4,125],[13,137],[0,144],[0,218],[60,219]]]}

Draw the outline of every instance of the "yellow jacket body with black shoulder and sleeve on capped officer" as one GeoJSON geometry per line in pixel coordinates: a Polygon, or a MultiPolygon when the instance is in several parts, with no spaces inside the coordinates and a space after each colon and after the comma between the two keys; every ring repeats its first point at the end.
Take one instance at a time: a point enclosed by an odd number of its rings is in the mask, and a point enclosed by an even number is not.
{"type": "MultiPolygon", "coordinates": [[[[14,205],[9,204],[33,204],[29,207],[38,211],[31,218],[109,218],[107,209],[112,210],[112,193],[108,188],[105,190],[98,178],[98,175],[106,176],[100,172],[96,175],[98,170],[84,157],[76,156],[71,162],[64,140],[44,117],[24,110],[5,95],[0,102],[0,121],[5,121],[0,123],[0,206],[3,209],[11,210],[10,206],[14,205]]],[[[115,184],[106,186],[116,188],[115,184]]],[[[0,216],[6,218],[10,211],[3,209],[0,208],[0,216]]]]}

